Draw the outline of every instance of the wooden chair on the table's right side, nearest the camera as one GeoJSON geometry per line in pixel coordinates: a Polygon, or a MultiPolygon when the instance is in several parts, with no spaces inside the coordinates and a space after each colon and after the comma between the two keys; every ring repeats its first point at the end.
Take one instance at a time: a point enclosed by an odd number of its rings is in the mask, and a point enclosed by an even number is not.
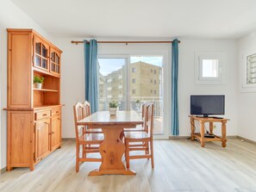
{"type": "Polygon", "coordinates": [[[148,104],[145,113],[145,126],[147,132],[126,132],[125,133],[125,158],[127,169],[129,169],[130,159],[136,158],[151,158],[152,169],[153,164],[153,104],[148,104]],[[137,143],[143,143],[145,145],[137,145],[137,143]],[[145,151],[145,154],[130,155],[133,151],[145,151]]]}

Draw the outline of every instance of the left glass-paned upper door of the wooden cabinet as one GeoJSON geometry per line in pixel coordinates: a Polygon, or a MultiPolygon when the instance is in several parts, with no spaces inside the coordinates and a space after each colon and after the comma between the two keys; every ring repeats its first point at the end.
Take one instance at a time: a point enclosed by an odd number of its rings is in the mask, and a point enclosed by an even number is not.
{"type": "Polygon", "coordinates": [[[34,37],[34,66],[49,71],[49,46],[34,37]]]}

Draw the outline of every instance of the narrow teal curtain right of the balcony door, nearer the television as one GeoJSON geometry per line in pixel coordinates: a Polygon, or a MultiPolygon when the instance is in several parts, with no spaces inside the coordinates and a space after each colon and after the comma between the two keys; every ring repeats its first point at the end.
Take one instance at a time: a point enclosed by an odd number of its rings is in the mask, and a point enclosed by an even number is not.
{"type": "Polygon", "coordinates": [[[178,130],[178,40],[172,41],[172,135],[178,130]]]}

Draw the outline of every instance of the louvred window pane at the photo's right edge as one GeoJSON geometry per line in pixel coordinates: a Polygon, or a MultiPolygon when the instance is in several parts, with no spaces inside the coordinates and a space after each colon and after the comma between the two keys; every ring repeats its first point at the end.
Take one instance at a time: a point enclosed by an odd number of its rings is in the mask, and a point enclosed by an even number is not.
{"type": "Polygon", "coordinates": [[[247,56],[247,84],[256,84],[256,54],[247,56]]]}

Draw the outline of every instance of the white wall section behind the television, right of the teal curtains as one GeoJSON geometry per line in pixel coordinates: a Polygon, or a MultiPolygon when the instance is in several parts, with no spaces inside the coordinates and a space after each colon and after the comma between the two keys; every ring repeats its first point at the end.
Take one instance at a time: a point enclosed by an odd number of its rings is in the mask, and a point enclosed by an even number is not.
{"type": "MultiPolygon", "coordinates": [[[[181,40],[179,46],[179,122],[180,135],[190,134],[190,95],[192,94],[224,94],[225,117],[230,119],[227,124],[227,135],[237,135],[237,43],[235,40],[181,40]],[[194,84],[195,52],[224,53],[225,84],[198,85],[194,84]]],[[[197,125],[198,127],[198,125],[197,125]]],[[[217,126],[220,127],[220,126],[217,126]]],[[[221,133],[220,128],[215,133],[221,133]]],[[[199,129],[197,129],[197,132],[199,129]]]]}

